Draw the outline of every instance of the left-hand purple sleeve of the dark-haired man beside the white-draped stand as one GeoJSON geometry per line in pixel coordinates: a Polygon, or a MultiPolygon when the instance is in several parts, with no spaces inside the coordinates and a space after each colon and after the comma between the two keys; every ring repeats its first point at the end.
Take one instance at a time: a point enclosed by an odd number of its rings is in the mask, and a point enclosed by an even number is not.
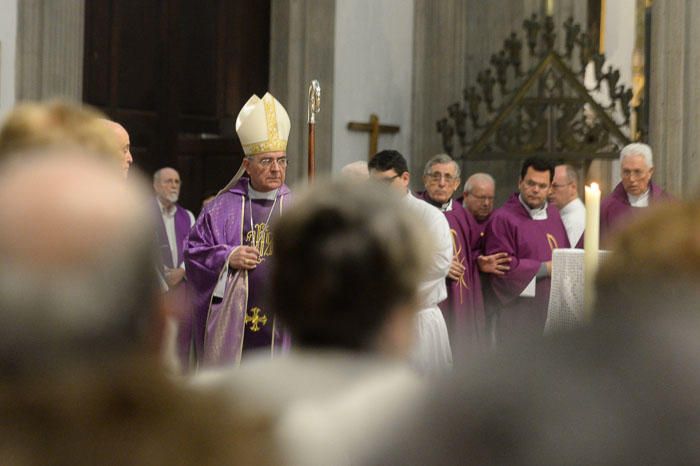
{"type": "Polygon", "coordinates": [[[505,275],[491,275],[491,286],[503,304],[520,296],[542,265],[539,260],[518,257],[516,226],[502,215],[495,216],[486,226],[484,251],[487,256],[506,252],[512,258],[505,275]]]}

